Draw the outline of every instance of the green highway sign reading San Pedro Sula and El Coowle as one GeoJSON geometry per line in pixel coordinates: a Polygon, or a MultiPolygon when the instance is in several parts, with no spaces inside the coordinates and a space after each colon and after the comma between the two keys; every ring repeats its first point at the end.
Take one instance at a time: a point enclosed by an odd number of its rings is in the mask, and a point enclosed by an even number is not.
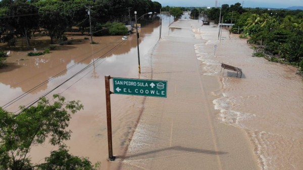
{"type": "Polygon", "coordinates": [[[115,94],[138,95],[150,97],[167,96],[167,81],[113,78],[115,94]]]}

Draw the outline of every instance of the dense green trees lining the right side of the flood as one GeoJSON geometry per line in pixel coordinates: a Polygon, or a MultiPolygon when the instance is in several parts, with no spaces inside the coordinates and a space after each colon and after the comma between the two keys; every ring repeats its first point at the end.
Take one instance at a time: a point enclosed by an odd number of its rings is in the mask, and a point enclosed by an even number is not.
{"type": "Polygon", "coordinates": [[[231,32],[255,44],[255,56],[298,66],[303,73],[303,11],[243,9],[240,3],[207,10],[215,23],[232,23],[231,32]]]}

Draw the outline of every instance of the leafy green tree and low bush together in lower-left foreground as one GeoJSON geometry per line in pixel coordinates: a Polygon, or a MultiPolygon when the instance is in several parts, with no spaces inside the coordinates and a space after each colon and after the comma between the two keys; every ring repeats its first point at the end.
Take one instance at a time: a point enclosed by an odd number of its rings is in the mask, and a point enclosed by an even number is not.
{"type": "Polygon", "coordinates": [[[20,106],[13,114],[0,107],[0,169],[96,169],[88,158],[69,153],[65,140],[71,137],[67,130],[71,114],[83,109],[79,101],[65,101],[55,94],[54,101],[41,97],[36,106],[20,106]],[[29,152],[33,146],[45,141],[58,149],[45,157],[43,163],[31,162],[29,152]]]}

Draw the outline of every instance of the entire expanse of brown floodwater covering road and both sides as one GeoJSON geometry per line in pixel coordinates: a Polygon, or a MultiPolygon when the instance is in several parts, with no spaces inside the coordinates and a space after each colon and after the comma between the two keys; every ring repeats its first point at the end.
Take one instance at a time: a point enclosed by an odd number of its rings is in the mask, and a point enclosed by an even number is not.
{"type": "MultiPolygon", "coordinates": [[[[302,169],[303,82],[295,68],[252,57],[246,40],[225,30],[220,42],[217,25],[184,16],[170,22],[164,17],[159,42],[159,22],[141,28],[140,75],[135,35],[94,37],[99,44],[74,36],[73,45],[35,57],[13,51],[0,69],[0,104],[18,112],[55,88],[47,97],[81,100],[65,143],[101,169],[302,169]],[[241,68],[242,78],[220,73],[222,62],[241,68]],[[105,75],[168,81],[167,99],[111,95],[114,162],[107,161],[105,75]]],[[[52,149],[44,144],[30,156],[43,162],[52,149]]]]}

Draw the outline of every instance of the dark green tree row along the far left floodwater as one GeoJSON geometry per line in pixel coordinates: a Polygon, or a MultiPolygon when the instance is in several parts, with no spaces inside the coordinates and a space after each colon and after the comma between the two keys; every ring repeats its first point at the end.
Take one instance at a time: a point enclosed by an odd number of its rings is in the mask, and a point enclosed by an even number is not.
{"type": "Polygon", "coordinates": [[[67,28],[77,26],[82,33],[91,24],[134,21],[134,11],[141,16],[148,12],[159,13],[161,4],[150,0],[2,0],[0,2],[1,42],[10,46],[15,37],[24,37],[27,46],[33,33],[47,31],[54,39],[61,39],[67,28]]]}

